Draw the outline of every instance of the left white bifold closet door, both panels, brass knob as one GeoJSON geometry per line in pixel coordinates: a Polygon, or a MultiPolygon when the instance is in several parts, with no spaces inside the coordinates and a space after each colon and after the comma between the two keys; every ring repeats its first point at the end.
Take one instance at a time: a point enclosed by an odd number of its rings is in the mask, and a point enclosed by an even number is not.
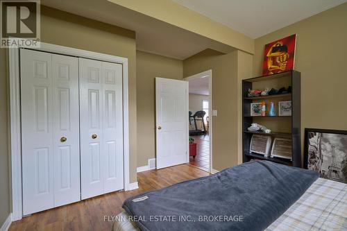
{"type": "Polygon", "coordinates": [[[20,50],[23,214],[81,200],[78,58],[20,50]]]}

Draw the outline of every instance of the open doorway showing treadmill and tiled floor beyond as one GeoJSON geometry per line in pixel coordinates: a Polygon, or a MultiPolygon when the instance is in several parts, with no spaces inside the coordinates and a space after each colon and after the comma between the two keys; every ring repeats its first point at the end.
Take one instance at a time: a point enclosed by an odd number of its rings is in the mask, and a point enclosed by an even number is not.
{"type": "Polygon", "coordinates": [[[212,173],[212,71],[185,80],[189,82],[189,164],[212,173]]]}

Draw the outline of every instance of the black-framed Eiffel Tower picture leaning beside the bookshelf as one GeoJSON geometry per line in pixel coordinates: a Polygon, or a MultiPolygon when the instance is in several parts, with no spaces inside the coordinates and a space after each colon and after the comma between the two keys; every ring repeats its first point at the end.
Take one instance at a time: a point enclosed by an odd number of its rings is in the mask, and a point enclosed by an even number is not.
{"type": "Polygon", "coordinates": [[[347,183],[347,131],[305,128],[305,169],[347,183]]]}

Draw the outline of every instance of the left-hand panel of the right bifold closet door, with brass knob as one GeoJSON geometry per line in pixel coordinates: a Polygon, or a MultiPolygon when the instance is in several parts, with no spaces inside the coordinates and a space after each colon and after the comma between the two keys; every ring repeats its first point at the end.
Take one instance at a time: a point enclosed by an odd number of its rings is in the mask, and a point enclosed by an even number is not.
{"type": "Polygon", "coordinates": [[[81,124],[81,198],[103,194],[102,65],[79,58],[81,124]]]}

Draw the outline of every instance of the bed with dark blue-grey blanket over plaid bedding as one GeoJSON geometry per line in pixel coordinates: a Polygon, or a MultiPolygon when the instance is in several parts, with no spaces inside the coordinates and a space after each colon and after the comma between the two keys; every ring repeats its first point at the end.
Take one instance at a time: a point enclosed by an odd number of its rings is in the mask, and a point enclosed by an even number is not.
{"type": "Polygon", "coordinates": [[[268,161],[247,162],[212,176],[133,196],[123,207],[114,231],[347,230],[346,184],[318,178],[314,171],[268,161]],[[182,196],[187,189],[205,190],[198,198],[187,198],[182,196]],[[204,196],[208,199],[203,200],[204,196]],[[152,214],[192,215],[195,220],[146,219],[152,214]],[[234,219],[198,220],[196,214],[232,214],[234,219]],[[236,221],[239,214],[244,215],[242,221],[236,221]]]}

